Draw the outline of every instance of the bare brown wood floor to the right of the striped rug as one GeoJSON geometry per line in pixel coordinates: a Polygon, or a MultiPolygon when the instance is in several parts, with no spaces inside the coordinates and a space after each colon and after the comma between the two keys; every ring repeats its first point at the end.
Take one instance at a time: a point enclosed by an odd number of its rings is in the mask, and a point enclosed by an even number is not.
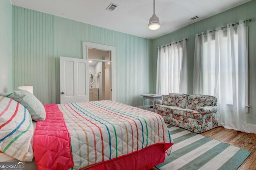
{"type": "MultiPolygon", "coordinates": [[[[201,134],[219,140],[220,142],[229,143],[232,146],[251,151],[252,153],[238,170],[256,170],[256,134],[237,132],[236,130],[223,127],[216,127],[201,134]]],[[[157,168],[154,167],[150,170],[157,170],[157,168]]]]}

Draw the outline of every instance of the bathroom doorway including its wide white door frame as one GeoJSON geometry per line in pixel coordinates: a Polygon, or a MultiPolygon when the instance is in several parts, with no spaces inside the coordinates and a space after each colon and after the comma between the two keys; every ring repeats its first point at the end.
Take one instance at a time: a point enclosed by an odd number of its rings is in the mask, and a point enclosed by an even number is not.
{"type": "Polygon", "coordinates": [[[87,101],[116,101],[116,47],[82,42],[82,54],[82,59],[86,61],[87,101]]]}

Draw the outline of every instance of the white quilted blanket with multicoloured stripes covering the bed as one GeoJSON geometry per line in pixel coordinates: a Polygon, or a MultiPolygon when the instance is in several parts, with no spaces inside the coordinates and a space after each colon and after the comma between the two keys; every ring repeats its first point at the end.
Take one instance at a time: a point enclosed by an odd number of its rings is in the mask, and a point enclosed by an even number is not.
{"type": "Polygon", "coordinates": [[[154,144],[166,144],[163,152],[170,154],[170,133],[156,113],[114,101],[58,104],[58,109],[70,134],[73,169],[88,168],[154,144]]]}

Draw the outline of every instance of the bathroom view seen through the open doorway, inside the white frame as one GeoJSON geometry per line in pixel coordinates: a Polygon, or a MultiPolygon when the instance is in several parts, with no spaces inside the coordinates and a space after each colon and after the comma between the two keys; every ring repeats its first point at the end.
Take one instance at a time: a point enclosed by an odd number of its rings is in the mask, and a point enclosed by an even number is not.
{"type": "Polygon", "coordinates": [[[88,48],[89,101],[112,100],[111,51],[88,48]]]}

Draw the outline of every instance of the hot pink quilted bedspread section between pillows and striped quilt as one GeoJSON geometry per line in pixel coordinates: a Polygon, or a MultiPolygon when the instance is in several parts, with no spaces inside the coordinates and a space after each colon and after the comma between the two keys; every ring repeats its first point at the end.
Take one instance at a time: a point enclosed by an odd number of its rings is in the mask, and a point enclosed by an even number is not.
{"type": "Polygon", "coordinates": [[[38,170],[72,168],[70,135],[63,114],[56,104],[44,105],[44,108],[46,119],[37,121],[34,133],[36,166],[38,170]]]}

